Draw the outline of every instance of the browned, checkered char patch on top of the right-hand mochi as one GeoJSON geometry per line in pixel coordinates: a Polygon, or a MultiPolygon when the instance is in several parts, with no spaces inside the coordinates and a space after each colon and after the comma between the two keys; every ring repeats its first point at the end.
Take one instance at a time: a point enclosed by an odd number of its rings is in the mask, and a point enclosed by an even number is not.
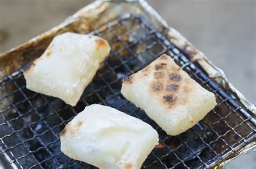
{"type": "MultiPolygon", "coordinates": [[[[168,108],[176,104],[187,103],[187,98],[183,97],[183,95],[187,95],[191,90],[190,87],[183,84],[190,83],[190,81],[182,78],[181,69],[178,65],[172,64],[170,56],[166,54],[161,55],[149,66],[145,67],[141,73],[144,76],[145,73],[152,73],[153,81],[150,81],[149,92],[158,97],[168,108]]],[[[132,80],[134,81],[136,78],[138,77],[134,76],[132,80]]]]}

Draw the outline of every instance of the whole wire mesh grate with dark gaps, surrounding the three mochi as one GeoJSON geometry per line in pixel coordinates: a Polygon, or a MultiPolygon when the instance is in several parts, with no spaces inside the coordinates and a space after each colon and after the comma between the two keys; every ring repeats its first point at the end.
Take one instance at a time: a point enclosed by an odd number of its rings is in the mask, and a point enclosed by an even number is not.
{"type": "Polygon", "coordinates": [[[92,103],[109,105],[140,118],[158,131],[159,145],[146,159],[145,168],[211,167],[255,139],[255,119],[237,98],[227,95],[198,64],[143,18],[127,14],[91,34],[109,41],[112,52],[76,107],[26,89],[22,70],[0,81],[0,150],[12,167],[94,168],[60,152],[58,137],[64,126],[92,103]],[[197,125],[175,137],[167,136],[143,110],[120,94],[124,76],[139,71],[164,53],[212,91],[218,102],[197,125]]]}

